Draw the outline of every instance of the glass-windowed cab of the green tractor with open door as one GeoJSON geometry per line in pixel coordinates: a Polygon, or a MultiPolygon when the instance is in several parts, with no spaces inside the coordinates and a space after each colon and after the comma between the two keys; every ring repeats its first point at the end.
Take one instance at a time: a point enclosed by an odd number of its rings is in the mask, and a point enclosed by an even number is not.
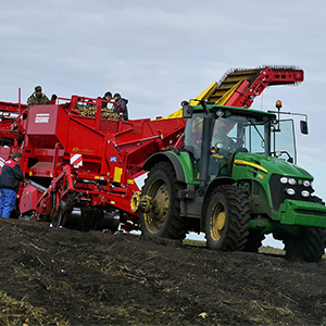
{"type": "Polygon", "coordinates": [[[206,173],[208,179],[231,176],[239,152],[297,162],[292,120],[279,121],[271,112],[220,105],[185,105],[184,117],[184,150],[191,153],[195,179],[206,173]],[[202,162],[206,168],[201,167],[202,162]]]}

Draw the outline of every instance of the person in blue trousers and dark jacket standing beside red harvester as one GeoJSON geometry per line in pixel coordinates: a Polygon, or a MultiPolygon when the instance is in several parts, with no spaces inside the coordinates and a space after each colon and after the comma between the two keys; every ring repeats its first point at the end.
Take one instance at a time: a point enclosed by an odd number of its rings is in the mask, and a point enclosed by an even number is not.
{"type": "Polygon", "coordinates": [[[20,166],[22,154],[14,152],[2,166],[0,176],[0,216],[9,218],[13,211],[24,176],[20,166]]]}

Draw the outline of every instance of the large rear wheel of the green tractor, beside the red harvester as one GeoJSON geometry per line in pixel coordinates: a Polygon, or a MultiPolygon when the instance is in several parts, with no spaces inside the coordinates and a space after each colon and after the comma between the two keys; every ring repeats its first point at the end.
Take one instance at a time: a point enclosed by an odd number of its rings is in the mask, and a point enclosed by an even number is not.
{"type": "Polygon", "coordinates": [[[163,237],[183,240],[187,225],[180,217],[180,201],[174,167],[167,162],[155,164],[145,180],[142,193],[151,198],[152,208],[140,213],[140,227],[146,237],[163,237]]]}

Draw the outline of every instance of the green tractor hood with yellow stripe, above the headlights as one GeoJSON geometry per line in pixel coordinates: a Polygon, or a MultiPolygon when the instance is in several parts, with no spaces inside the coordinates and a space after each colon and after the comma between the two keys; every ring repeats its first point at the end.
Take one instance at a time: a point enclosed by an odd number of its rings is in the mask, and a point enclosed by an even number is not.
{"type": "Polygon", "coordinates": [[[268,174],[269,176],[272,174],[279,174],[285,176],[313,179],[313,176],[304,168],[280,159],[264,154],[237,153],[235,156],[235,164],[251,166],[256,168],[256,171],[268,174]]]}

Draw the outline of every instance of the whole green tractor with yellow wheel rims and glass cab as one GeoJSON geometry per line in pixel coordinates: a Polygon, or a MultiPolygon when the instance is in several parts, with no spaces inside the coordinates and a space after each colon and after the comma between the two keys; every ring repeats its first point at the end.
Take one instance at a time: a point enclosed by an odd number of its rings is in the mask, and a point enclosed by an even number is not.
{"type": "Polygon", "coordinates": [[[326,208],[313,196],[313,176],[296,165],[293,121],[279,120],[279,109],[183,102],[183,146],[143,165],[142,235],[183,240],[203,231],[211,249],[256,252],[273,234],[287,258],[321,261],[326,208]]]}

